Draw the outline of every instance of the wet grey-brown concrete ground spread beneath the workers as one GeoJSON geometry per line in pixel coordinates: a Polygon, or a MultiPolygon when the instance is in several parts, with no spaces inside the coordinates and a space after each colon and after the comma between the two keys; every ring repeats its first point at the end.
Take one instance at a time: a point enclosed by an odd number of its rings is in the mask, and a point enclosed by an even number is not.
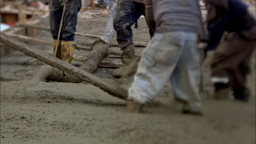
{"type": "MultiPolygon", "coordinates": [[[[79,19],[77,32],[102,35],[106,18],[79,19]]],[[[144,18],[134,29],[134,41],[148,42],[144,18]]],[[[35,38],[52,41],[50,32],[35,38]]],[[[76,44],[95,40],[76,37],[76,44]]],[[[52,46],[27,42],[48,52],[52,46]]],[[[116,41],[112,42],[113,48],[116,41]]],[[[118,50],[118,48],[116,48],[118,50]]],[[[138,48],[137,52],[142,52],[138,48]]],[[[80,51],[81,52],[81,51],[80,51]]],[[[76,54],[79,52],[76,50],[76,54]]],[[[204,116],[181,114],[181,105],[173,100],[170,82],[147,105],[144,114],[126,112],[126,102],[114,98],[86,82],[32,82],[30,79],[44,63],[14,51],[1,58],[0,142],[1,144],[255,144],[256,96],[255,54],[248,87],[250,101],[215,100],[210,82],[210,60],[204,62],[202,111],[204,116]]],[[[118,59],[120,61],[120,59],[118,59]]],[[[79,66],[81,62],[73,61],[79,66]]],[[[106,81],[129,88],[133,76],[114,78],[112,68],[98,68],[94,73],[106,81]]],[[[184,82],[186,84],[186,82],[184,82]]]]}

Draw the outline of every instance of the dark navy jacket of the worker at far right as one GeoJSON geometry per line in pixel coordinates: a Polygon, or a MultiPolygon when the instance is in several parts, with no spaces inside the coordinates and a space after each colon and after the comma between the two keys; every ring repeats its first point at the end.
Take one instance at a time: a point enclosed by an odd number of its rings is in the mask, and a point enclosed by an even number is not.
{"type": "MultiPolygon", "coordinates": [[[[214,50],[220,43],[224,32],[236,32],[241,38],[251,39],[245,32],[256,24],[248,12],[248,6],[241,0],[206,0],[208,10],[208,50],[214,50]]],[[[254,39],[254,38],[252,38],[254,39]]]]}

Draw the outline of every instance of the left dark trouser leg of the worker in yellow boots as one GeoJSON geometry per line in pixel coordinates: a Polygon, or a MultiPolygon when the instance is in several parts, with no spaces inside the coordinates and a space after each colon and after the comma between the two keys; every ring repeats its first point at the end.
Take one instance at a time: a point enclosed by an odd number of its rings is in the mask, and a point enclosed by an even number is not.
{"type": "MultiPolygon", "coordinates": [[[[60,29],[60,21],[63,12],[63,7],[57,0],[50,1],[50,32],[53,39],[58,39],[60,29]]],[[[60,33],[60,40],[62,40],[62,32],[60,33]]]]}

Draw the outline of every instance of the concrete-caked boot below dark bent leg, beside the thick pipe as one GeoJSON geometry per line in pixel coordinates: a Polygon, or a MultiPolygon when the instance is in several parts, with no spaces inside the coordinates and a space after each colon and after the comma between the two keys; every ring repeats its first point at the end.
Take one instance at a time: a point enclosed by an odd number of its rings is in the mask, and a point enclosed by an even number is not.
{"type": "Polygon", "coordinates": [[[133,70],[128,70],[129,69],[129,64],[132,64],[135,59],[135,50],[134,50],[134,45],[130,44],[126,48],[122,48],[122,54],[121,54],[121,60],[122,64],[120,68],[116,69],[113,71],[112,75],[116,78],[122,77],[125,73],[128,75],[136,72],[136,66],[132,66],[133,70]]]}

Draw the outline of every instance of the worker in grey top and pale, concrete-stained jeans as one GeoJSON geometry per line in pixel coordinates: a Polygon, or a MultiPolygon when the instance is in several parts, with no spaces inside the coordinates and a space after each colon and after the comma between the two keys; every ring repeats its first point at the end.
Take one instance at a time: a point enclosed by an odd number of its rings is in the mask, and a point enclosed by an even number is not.
{"type": "Polygon", "coordinates": [[[154,36],[142,54],[134,82],[128,90],[128,112],[142,112],[171,80],[183,112],[200,111],[200,38],[207,39],[198,0],[152,0],[154,36]]]}

